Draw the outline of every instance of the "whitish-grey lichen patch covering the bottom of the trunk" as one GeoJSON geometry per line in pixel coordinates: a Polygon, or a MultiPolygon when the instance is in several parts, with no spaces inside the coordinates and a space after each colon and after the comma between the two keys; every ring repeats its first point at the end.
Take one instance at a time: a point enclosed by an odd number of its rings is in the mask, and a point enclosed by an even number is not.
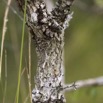
{"type": "MultiPolygon", "coordinates": [[[[61,101],[61,103],[65,102],[64,96],[62,94],[63,85],[61,83],[62,77],[46,77],[46,82],[42,86],[41,90],[34,89],[32,91],[33,102],[40,103],[57,103],[57,100],[61,101]],[[38,99],[39,98],[39,99],[38,99]],[[48,102],[47,102],[48,101],[48,102]]],[[[43,82],[44,83],[44,82],[43,82]]]]}

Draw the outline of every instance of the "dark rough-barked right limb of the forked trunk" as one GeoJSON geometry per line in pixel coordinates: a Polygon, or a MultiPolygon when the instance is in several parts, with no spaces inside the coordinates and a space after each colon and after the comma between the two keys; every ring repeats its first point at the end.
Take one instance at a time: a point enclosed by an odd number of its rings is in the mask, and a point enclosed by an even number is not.
{"type": "MultiPolygon", "coordinates": [[[[70,6],[74,0],[58,0],[52,15],[57,19],[59,25],[63,27],[66,19],[70,18],[70,6]]],[[[70,19],[69,19],[70,20],[70,19]]]]}

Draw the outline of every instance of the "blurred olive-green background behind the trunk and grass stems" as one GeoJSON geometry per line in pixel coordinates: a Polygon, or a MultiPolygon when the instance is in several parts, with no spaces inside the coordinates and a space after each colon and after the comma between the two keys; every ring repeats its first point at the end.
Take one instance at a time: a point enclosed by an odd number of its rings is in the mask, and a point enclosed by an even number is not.
{"type": "MultiPolygon", "coordinates": [[[[13,1],[13,0],[12,0],[13,1]]],[[[17,9],[15,1],[13,8],[17,9]]],[[[0,46],[6,4],[0,1],[0,46]]],[[[65,81],[94,78],[103,75],[103,0],[75,0],[71,11],[74,12],[70,26],[65,32],[65,81]]],[[[19,70],[19,56],[22,33],[22,21],[12,10],[9,11],[4,51],[7,51],[7,91],[5,103],[14,103],[19,70]]],[[[32,89],[37,66],[35,45],[31,43],[32,89]]],[[[23,70],[28,68],[28,29],[25,30],[23,52],[23,70]]],[[[2,85],[0,85],[0,103],[3,101],[5,82],[5,52],[3,55],[2,85]]],[[[21,78],[20,100],[24,103],[28,96],[27,70],[21,78]]],[[[103,87],[89,87],[66,92],[67,103],[103,103],[103,87]]],[[[27,103],[30,103],[29,100],[27,103]]]]}

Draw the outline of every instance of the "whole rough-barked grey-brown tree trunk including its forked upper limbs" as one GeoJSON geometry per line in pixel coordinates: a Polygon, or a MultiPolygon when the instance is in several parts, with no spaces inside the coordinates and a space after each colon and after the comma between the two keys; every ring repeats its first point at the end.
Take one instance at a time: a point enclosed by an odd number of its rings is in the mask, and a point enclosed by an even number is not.
{"type": "MultiPolygon", "coordinates": [[[[24,0],[17,0],[24,11],[24,0]]],[[[48,12],[43,0],[27,0],[26,24],[35,41],[38,56],[33,103],[64,103],[63,46],[64,30],[72,14],[73,0],[58,0],[48,12]]]]}

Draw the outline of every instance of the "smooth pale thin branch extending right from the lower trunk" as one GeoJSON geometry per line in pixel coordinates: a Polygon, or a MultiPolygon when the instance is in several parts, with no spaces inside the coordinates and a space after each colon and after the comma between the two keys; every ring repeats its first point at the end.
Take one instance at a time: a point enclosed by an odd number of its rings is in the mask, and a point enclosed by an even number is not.
{"type": "Polygon", "coordinates": [[[78,80],[74,83],[68,84],[64,89],[67,91],[74,91],[79,88],[90,86],[103,86],[103,76],[86,80],[78,80]]]}

